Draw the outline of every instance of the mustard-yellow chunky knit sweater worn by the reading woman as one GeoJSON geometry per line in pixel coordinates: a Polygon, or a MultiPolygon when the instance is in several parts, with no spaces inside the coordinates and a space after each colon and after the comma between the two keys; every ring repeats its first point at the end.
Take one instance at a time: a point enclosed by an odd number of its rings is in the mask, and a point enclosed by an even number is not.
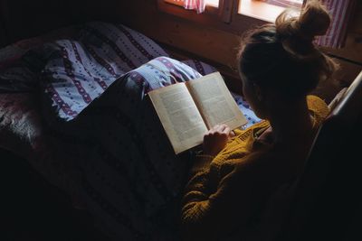
{"type": "MultiPolygon", "coordinates": [[[[307,102],[315,132],[329,108],[319,97],[307,102]]],[[[186,240],[223,240],[235,228],[247,227],[271,193],[296,177],[305,155],[255,140],[269,126],[262,121],[237,130],[217,156],[196,157],[182,202],[186,240]]]]}

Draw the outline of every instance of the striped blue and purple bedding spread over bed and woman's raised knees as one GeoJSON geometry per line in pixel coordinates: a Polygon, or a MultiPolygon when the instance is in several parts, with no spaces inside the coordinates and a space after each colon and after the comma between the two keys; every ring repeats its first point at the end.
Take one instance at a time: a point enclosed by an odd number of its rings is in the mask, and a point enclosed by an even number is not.
{"type": "MultiPolygon", "coordinates": [[[[175,230],[165,214],[183,187],[189,155],[175,158],[142,100],[151,89],[215,69],[173,60],[121,24],[76,29],[21,51],[0,51],[0,144],[27,157],[110,236],[144,236],[164,227],[158,234],[170,237],[175,230]]],[[[232,94],[248,125],[260,121],[232,94]]]]}

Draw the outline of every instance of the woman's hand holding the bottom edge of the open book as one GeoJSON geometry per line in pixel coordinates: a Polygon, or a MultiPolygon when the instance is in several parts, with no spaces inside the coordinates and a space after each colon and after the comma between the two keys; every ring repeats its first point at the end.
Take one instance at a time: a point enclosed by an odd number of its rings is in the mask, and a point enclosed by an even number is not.
{"type": "Polygon", "coordinates": [[[204,154],[214,156],[220,153],[231,135],[233,135],[233,132],[231,132],[229,126],[215,125],[204,135],[204,154]]]}

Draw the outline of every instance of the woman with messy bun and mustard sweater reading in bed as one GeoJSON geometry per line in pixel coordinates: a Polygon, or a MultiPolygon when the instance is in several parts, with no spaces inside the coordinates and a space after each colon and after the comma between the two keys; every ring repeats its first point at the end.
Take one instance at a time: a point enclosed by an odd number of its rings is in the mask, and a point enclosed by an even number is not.
{"type": "Polygon", "coordinates": [[[308,96],[335,63],[313,44],[329,14],[309,1],[299,17],[249,32],[240,54],[243,95],[264,119],[233,136],[226,125],[205,134],[186,185],[182,224],[186,240],[223,240],[250,231],[271,194],[293,181],[329,108],[308,96]]]}

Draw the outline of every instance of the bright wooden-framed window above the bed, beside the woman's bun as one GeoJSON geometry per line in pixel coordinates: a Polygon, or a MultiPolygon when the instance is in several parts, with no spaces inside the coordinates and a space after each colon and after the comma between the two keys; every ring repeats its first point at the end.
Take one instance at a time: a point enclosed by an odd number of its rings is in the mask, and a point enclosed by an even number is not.
{"type": "Polygon", "coordinates": [[[303,0],[205,0],[205,13],[196,14],[183,8],[184,0],[157,0],[167,14],[214,26],[228,32],[243,32],[251,25],[274,22],[287,7],[300,14],[303,0]]]}

